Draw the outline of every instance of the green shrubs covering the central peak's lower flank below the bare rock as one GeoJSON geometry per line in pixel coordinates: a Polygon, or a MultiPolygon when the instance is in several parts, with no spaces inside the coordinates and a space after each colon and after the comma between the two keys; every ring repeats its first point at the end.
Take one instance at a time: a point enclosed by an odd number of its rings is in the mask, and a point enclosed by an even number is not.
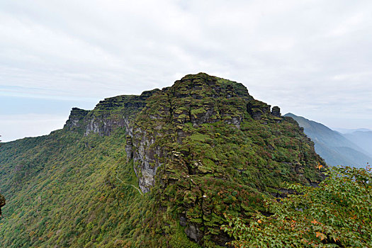
{"type": "MultiPolygon", "coordinates": [[[[307,140],[295,132],[295,125],[271,123],[257,128],[251,121],[242,123],[243,127],[250,132],[222,122],[185,127],[190,135],[181,145],[172,143],[171,147],[180,151],[179,156],[173,154],[159,169],[161,179],[150,192],[159,208],[173,213],[167,216],[167,222],[176,225],[184,216],[203,232],[205,247],[227,241],[221,239],[223,213],[250,218],[257,210],[265,211],[263,195],[278,192],[283,181],[308,184],[308,179],[321,179],[316,164],[309,163],[317,161],[317,157],[311,157],[315,154],[310,152],[310,145],[291,149],[307,140]],[[276,142],[281,132],[293,132],[293,137],[276,142]],[[265,148],[269,145],[272,150],[265,148]],[[303,152],[305,149],[308,152],[303,152]]],[[[162,230],[164,225],[157,228],[162,230]]]]}

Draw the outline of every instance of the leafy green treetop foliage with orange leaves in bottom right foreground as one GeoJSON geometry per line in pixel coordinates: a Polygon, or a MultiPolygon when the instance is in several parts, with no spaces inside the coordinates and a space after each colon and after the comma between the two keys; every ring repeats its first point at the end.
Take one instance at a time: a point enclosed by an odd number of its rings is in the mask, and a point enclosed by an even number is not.
{"type": "Polygon", "coordinates": [[[372,170],[332,167],[318,187],[294,184],[287,198],[266,198],[266,217],[226,216],[234,247],[372,247],[372,170]]]}

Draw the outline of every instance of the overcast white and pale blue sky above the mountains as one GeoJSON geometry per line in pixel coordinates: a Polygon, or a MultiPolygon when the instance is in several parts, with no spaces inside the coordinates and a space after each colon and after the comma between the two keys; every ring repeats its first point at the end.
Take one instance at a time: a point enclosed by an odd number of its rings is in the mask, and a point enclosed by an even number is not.
{"type": "Polygon", "coordinates": [[[0,0],[0,135],[206,72],[331,128],[372,128],[372,1],[0,0]]]}

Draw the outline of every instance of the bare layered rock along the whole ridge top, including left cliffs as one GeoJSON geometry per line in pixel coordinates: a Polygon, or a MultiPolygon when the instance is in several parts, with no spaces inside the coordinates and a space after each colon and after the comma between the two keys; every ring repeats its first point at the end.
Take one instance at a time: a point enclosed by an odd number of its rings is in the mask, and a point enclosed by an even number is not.
{"type": "Polygon", "coordinates": [[[177,141],[181,142],[186,137],[181,128],[185,123],[198,127],[222,120],[240,128],[247,112],[254,120],[268,120],[267,115],[280,117],[278,107],[270,112],[270,106],[254,100],[244,85],[199,73],[140,96],[106,98],[93,111],[72,108],[64,128],[84,135],[110,135],[116,128],[124,127],[128,134],[125,146],[128,159],[133,159],[141,190],[148,192],[154,185],[157,168],[169,152],[156,144],[157,140],[167,138],[164,125],[171,123],[175,128],[171,132],[177,133],[177,141]],[[144,119],[151,123],[143,122],[144,119]]]}

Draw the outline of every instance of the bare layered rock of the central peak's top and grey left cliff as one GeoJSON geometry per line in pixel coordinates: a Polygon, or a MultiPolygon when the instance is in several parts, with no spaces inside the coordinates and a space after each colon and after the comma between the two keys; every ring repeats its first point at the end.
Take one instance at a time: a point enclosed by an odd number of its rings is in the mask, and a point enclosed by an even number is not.
{"type": "Polygon", "coordinates": [[[169,157],[171,150],[162,140],[181,142],[187,136],[181,129],[184,123],[195,127],[222,120],[239,128],[245,102],[252,99],[242,84],[204,73],[187,75],[147,98],[146,107],[130,125],[132,139],[126,145],[141,190],[150,191],[157,169],[169,157]]]}

